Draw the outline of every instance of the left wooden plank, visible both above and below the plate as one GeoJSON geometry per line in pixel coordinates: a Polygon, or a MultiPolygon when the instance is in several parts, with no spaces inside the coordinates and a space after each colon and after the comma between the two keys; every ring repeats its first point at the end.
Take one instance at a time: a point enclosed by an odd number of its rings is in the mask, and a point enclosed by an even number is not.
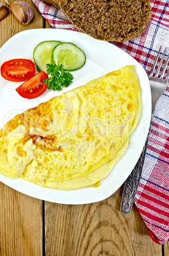
{"type": "MultiPolygon", "coordinates": [[[[43,27],[39,11],[32,1],[27,3],[34,10],[32,22],[22,25],[12,13],[1,20],[0,47],[20,31],[43,27]]],[[[25,196],[3,183],[0,183],[0,192],[0,255],[43,255],[43,201],[25,196]]]]}

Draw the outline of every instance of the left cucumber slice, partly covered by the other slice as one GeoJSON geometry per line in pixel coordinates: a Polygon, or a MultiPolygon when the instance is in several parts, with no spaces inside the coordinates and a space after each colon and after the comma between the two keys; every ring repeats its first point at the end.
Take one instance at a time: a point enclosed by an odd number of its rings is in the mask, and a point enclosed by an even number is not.
{"type": "Polygon", "coordinates": [[[34,48],[33,58],[38,72],[46,72],[46,64],[51,64],[51,53],[60,41],[43,41],[34,48]]]}

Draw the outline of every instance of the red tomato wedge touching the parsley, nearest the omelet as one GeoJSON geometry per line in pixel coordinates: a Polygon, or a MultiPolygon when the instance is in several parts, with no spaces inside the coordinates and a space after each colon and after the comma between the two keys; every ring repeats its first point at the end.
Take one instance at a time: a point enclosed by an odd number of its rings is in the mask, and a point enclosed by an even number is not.
{"type": "Polygon", "coordinates": [[[47,78],[48,75],[44,71],[41,71],[22,83],[16,90],[20,96],[27,99],[34,99],[41,96],[47,89],[48,85],[43,82],[43,80],[47,78]]]}

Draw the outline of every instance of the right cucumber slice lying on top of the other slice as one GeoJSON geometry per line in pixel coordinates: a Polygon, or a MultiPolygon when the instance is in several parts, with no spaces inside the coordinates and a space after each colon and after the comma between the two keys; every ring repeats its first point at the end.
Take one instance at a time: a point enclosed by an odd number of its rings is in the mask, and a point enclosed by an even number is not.
{"type": "Polygon", "coordinates": [[[66,71],[73,71],[85,64],[86,55],[74,43],[60,43],[53,48],[51,62],[64,65],[66,71]]]}

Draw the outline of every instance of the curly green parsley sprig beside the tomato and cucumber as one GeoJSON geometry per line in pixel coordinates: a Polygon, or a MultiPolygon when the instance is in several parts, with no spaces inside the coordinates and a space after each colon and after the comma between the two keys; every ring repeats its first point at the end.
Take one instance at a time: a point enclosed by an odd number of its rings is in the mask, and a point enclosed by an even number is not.
{"type": "Polygon", "coordinates": [[[71,73],[65,71],[62,64],[47,64],[46,73],[50,77],[43,82],[48,85],[48,89],[62,90],[62,87],[68,87],[74,79],[71,73]]]}

